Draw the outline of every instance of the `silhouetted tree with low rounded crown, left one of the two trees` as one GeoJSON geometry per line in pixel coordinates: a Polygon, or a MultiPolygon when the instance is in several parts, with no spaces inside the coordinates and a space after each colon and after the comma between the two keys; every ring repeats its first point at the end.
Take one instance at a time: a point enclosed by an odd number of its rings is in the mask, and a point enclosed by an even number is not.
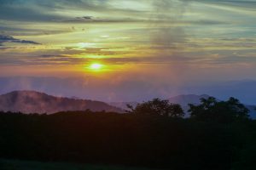
{"type": "Polygon", "coordinates": [[[141,104],[137,104],[136,107],[127,105],[131,110],[130,113],[137,115],[160,115],[171,117],[184,116],[183,109],[178,104],[172,104],[167,99],[152,99],[141,104]]]}

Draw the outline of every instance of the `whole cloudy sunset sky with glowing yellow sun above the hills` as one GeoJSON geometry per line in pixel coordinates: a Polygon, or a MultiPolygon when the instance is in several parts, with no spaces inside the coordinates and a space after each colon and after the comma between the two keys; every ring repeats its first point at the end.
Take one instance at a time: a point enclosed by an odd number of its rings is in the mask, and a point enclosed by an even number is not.
{"type": "Polygon", "coordinates": [[[256,80],[256,1],[0,0],[0,77],[109,101],[256,80]]]}

